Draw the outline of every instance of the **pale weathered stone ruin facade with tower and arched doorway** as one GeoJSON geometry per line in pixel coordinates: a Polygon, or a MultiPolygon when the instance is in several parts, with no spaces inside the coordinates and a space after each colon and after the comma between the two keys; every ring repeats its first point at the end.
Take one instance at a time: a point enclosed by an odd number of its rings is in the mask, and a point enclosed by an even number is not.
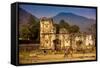
{"type": "Polygon", "coordinates": [[[59,29],[56,33],[56,27],[53,19],[43,17],[40,19],[40,48],[41,49],[64,49],[72,46],[77,48],[77,41],[81,40],[83,46],[95,45],[91,34],[69,34],[65,28],[59,29]]]}

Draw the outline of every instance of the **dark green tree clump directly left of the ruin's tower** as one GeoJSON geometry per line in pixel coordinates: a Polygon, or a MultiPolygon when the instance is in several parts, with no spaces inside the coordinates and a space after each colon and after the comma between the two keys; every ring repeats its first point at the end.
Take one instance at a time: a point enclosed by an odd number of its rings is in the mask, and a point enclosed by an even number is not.
{"type": "Polygon", "coordinates": [[[39,26],[39,22],[35,20],[35,18],[31,15],[28,22],[20,25],[19,28],[19,35],[20,38],[25,39],[25,40],[34,40],[34,41],[38,41],[40,39],[40,26],[39,26]]]}

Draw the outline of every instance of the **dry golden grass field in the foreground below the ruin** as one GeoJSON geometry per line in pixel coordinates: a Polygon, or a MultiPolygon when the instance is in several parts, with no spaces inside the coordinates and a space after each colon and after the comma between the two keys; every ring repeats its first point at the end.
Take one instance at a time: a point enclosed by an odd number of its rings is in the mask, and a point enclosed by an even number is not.
{"type": "Polygon", "coordinates": [[[30,63],[43,63],[43,62],[61,62],[61,61],[82,61],[82,60],[95,60],[96,53],[73,53],[65,55],[63,52],[58,53],[46,53],[38,51],[22,52],[19,54],[20,64],[30,63]]]}

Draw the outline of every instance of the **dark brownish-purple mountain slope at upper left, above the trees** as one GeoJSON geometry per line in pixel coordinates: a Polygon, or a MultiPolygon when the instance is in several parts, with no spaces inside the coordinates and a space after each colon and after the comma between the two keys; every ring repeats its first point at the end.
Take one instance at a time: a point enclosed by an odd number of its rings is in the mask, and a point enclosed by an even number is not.
{"type": "Polygon", "coordinates": [[[22,8],[19,8],[19,24],[20,25],[23,25],[23,24],[27,25],[27,24],[31,23],[31,22],[29,22],[30,19],[33,19],[35,21],[39,21],[39,19],[36,16],[32,15],[31,13],[27,12],[26,10],[24,10],[22,8]]]}

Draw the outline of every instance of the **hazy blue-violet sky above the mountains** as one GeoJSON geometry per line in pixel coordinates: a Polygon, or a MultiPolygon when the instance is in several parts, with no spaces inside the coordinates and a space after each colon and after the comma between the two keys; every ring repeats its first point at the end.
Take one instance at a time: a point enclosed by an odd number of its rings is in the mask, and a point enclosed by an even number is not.
{"type": "Polygon", "coordinates": [[[57,7],[43,5],[20,5],[21,8],[35,15],[36,17],[52,17],[60,12],[74,13],[91,19],[96,19],[96,9],[79,7],[57,7]]]}

